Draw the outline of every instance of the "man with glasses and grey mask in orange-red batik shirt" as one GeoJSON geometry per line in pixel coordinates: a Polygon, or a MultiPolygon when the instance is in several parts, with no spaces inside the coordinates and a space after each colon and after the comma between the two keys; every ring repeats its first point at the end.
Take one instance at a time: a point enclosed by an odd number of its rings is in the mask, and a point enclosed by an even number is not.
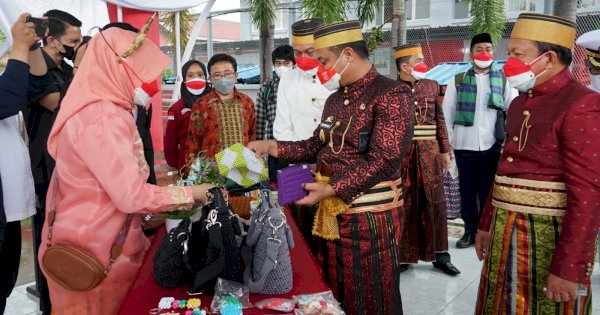
{"type": "Polygon", "coordinates": [[[198,154],[214,159],[227,147],[256,139],[256,122],[252,99],[236,87],[237,62],[226,54],[208,61],[213,89],[196,101],[190,115],[186,142],[186,165],[198,154]]]}

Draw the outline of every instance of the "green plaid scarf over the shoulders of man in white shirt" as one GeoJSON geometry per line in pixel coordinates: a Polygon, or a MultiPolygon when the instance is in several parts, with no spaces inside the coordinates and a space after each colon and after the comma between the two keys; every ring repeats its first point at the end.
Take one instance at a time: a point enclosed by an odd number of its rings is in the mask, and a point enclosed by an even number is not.
{"type": "MultiPolygon", "coordinates": [[[[492,64],[489,75],[491,93],[487,107],[498,110],[504,109],[504,74],[502,69],[492,64]]],[[[462,82],[458,85],[457,92],[458,104],[456,105],[454,124],[473,126],[477,102],[477,80],[473,68],[465,73],[462,82]]]]}

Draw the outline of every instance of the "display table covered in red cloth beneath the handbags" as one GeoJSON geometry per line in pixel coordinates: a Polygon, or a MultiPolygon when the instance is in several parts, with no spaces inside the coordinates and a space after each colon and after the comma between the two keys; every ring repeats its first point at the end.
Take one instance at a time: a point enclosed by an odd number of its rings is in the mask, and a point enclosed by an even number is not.
{"type": "MultiPolygon", "coordinates": [[[[290,251],[292,260],[292,269],[294,271],[294,287],[288,294],[283,295],[262,295],[251,294],[250,302],[256,303],[270,297],[291,298],[292,295],[309,294],[321,291],[329,291],[329,287],[323,282],[320,273],[320,268],[315,263],[310,249],[306,241],[301,236],[298,226],[292,219],[289,209],[285,209],[288,224],[294,235],[295,247],[290,251]]],[[[152,275],[153,258],[158,250],[161,240],[165,235],[165,228],[161,227],[155,237],[151,239],[150,249],[146,252],[142,267],[138,271],[133,285],[127,294],[127,297],[121,305],[119,314],[122,315],[137,315],[148,314],[148,312],[158,306],[158,302],[162,297],[174,297],[175,299],[190,299],[200,298],[202,307],[209,307],[212,301],[212,296],[196,295],[189,296],[186,293],[186,286],[182,285],[178,288],[169,289],[163,288],[154,282],[152,275]]],[[[168,311],[161,312],[167,313],[168,311]]],[[[179,314],[184,314],[185,310],[181,310],[179,314]]],[[[273,314],[274,311],[260,310],[257,308],[245,309],[244,314],[273,314]]]]}

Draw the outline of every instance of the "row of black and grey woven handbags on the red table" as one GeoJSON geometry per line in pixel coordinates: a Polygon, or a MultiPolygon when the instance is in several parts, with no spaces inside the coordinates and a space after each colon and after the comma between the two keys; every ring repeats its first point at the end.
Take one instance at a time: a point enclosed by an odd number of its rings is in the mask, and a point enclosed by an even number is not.
{"type": "Polygon", "coordinates": [[[193,223],[184,219],[163,239],[154,256],[156,283],[169,288],[187,283],[188,293],[212,294],[217,278],[223,278],[243,281],[251,293],[290,292],[294,239],[274,194],[268,189],[260,191],[260,202],[252,211],[243,241],[239,218],[231,210],[227,194],[220,188],[209,190],[211,200],[202,208],[201,219],[193,223]]]}

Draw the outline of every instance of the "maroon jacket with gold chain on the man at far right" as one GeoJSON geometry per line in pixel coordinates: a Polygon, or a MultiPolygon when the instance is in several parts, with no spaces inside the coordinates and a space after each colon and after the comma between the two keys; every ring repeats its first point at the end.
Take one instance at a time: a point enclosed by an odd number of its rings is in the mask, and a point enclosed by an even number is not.
{"type": "MultiPolygon", "coordinates": [[[[497,175],[565,183],[567,209],[550,272],[590,283],[585,273],[587,264],[594,264],[600,226],[600,94],[579,84],[565,68],[519,95],[508,110],[497,175]],[[528,134],[521,132],[525,113],[530,114],[528,134]]],[[[496,211],[491,199],[490,194],[480,230],[490,230],[496,211]]]]}

